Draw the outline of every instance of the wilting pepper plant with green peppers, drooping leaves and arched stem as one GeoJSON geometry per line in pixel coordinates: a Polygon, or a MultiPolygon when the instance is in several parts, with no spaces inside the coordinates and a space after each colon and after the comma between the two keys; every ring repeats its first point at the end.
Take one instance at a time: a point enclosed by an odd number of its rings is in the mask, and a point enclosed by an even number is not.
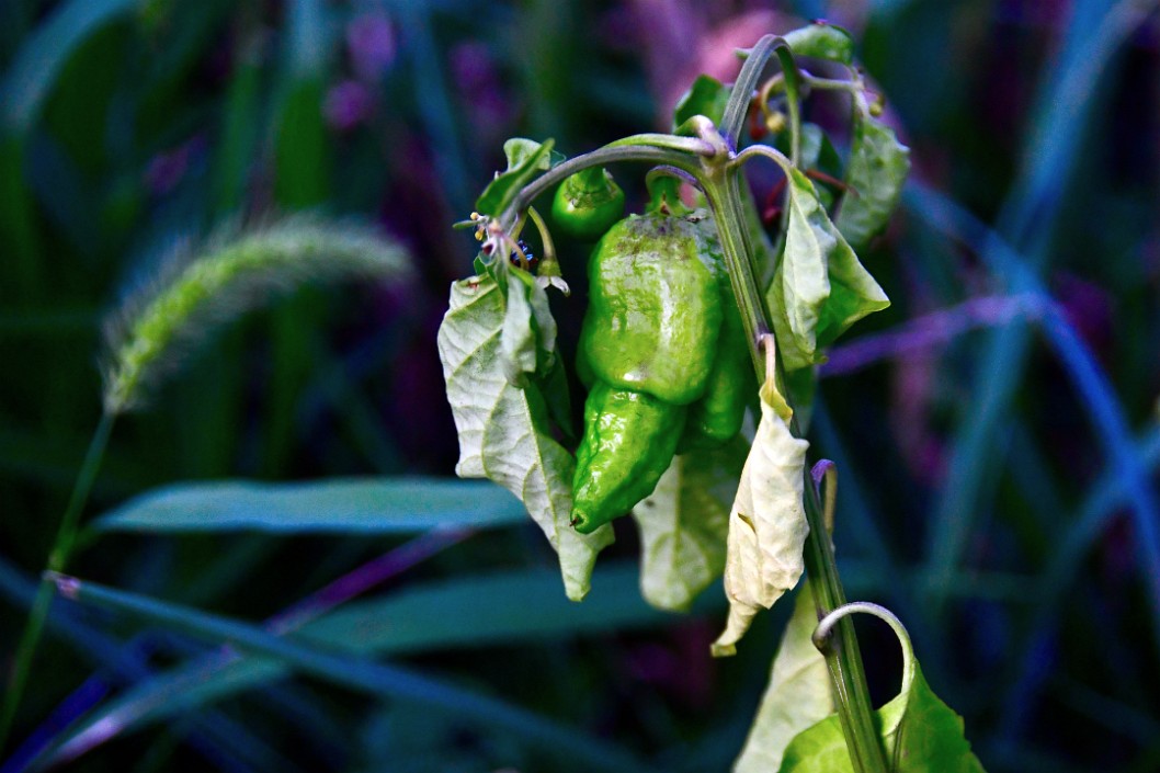
{"type": "Polygon", "coordinates": [[[669,133],[571,159],[551,139],[506,143],[507,168],[462,223],[480,241],[476,275],[452,286],[438,335],[457,472],[522,499],[575,601],[612,542],[608,521],[630,512],[651,604],[683,609],[724,573],[730,611],[713,656],[732,655],[754,616],[807,576],[738,771],[981,771],[902,624],[847,604],[829,536],[836,476],[807,461],[814,366],[889,305],[855,248],[886,225],[908,151],[879,120],[844,30],[818,22],[740,56],[732,86],[691,85],[669,133]],[[824,91],[849,97],[844,164],[803,118],[803,101],[824,91]],[[784,179],[767,217],[744,176],[751,161],[784,179]],[[646,169],[650,204],[618,219],[624,195],[607,167],[630,164],[646,169]],[[570,295],[567,275],[536,209],[553,189],[556,234],[600,238],[575,363],[588,390],[581,432],[549,299],[570,295]],[[521,239],[529,223],[539,255],[521,239]],[[755,429],[742,429],[747,412],[755,429]],[[856,612],[886,620],[904,649],[902,688],[878,710],[856,612]]]}

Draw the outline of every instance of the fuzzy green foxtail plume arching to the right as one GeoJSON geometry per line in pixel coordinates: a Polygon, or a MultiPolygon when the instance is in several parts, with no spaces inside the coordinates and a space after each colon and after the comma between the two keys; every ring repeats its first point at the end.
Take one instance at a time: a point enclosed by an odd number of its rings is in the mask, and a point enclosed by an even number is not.
{"type": "Polygon", "coordinates": [[[106,323],[104,410],[137,407],[219,326],[307,283],[403,277],[407,252],[365,225],[296,215],[184,244],[106,323]]]}

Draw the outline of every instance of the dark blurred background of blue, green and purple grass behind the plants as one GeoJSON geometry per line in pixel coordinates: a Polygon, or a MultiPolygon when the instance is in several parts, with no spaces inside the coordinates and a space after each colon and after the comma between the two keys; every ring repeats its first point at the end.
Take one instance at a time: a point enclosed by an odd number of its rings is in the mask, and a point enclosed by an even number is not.
{"type": "MultiPolygon", "coordinates": [[[[450,223],[500,165],[502,140],[551,136],[577,153],[666,128],[674,81],[696,74],[686,72],[697,64],[689,52],[719,43],[731,23],[776,22],[769,10],[645,0],[6,3],[3,663],[97,421],[101,316],[157,270],[168,244],[273,210],[354,214],[409,248],[418,279],[341,296],[306,290],[232,328],[118,426],[89,516],[175,481],[450,475],[455,432],[434,337],[472,251],[450,223]]],[[[1145,542],[1158,526],[1155,3],[819,0],[773,10],[848,24],[913,146],[918,185],[864,257],[894,305],[855,334],[1023,291],[1021,276],[1058,311],[822,383],[814,441],[842,470],[836,542],[851,592],[912,628],[931,684],[964,714],[992,773],[1155,770],[1158,577],[1141,563],[1141,548],[1160,549],[1145,542]],[[957,211],[943,202],[978,222],[938,217],[957,211]],[[1051,344],[1060,335],[1071,355],[1051,344]],[[1089,355],[1096,381],[1083,383],[1103,383],[1103,403],[1078,391],[1076,352],[1089,355]]],[[[639,185],[625,188],[639,198],[639,185]]],[[[566,274],[582,274],[582,254],[564,258],[566,274]]],[[[575,296],[557,308],[565,335],[580,309],[575,296]]],[[[631,556],[632,534],[619,536],[616,555],[631,556]]],[[[73,570],[258,620],[399,544],[106,535],[73,570]]],[[[384,598],[422,581],[470,588],[481,573],[551,561],[534,529],[484,532],[394,578],[384,598]]],[[[515,599],[490,601],[520,611],[515,599]]],[[[57,734],[43,723],[53,711],[77,716],[66,699],[82,684],[144,688],[151,673],[206,653],[164,626],[73,605],[56,612],[17,739],[57,734]]],[[[657,767],[724,770],[777,623],[760,626],[735,662],[705,663],[718,617],[643,631],[609,623],[536,644],[509,635],[413,652],[407,664],[582,727],[657,767]]],[[[885,699],[894,644],[864,633],[885,699]]],[[[283,678],[99,745],[70,770],[582,767],[454,715],[416,716],[406,702],[283,678]],[[284,708],[271,708],[275,698],[284,708]]],[[[17,757],[7,764],[21,770],[17,757]]]]}

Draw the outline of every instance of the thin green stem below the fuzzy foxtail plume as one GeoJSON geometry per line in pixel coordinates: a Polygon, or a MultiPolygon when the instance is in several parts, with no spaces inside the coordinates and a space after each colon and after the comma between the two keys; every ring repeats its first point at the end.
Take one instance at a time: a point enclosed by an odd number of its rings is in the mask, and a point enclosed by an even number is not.
{"type": "MultiPolygon", "coordinates": [[[[68,563],[68,556],[73,543],[77,540],[77,526],[80,522],[80,514],[88,501],[88,494],[93,490],[96,474],[101,469],[101,460],[104,458],[104,449],[109,442],[109,434],[113,432],[113,424],[116,413],[104,411],[101,421],[96,425],[93,439],[89,441],[88,450],[85,453],[85,461],[81,463],[80,472],[77,474],[77,483],[73,484],[68,505],[65,507],[64,518],[60,519],[60,527],[57,529],[56,541],[49,552],[46,569],[49,571],[63,571],[68,563]]],[[[5,691],[3,711],[0,713],[0,752],[3,752],[12,730],[12,723],[16,718],[16,708],[23,696],[24,687],[28,684],[28,674],[32,665],[32,656],[36,645],[44,630],[44,623],[49,616],[49,607],[52,605],[52,583],[42,577],[39,586],[36,588],[36,598],[28,613],[28,622],[24,624],[24,633],[20,637],[16,648],[16,658],[13,664],[12,682],[5,691]]]]}

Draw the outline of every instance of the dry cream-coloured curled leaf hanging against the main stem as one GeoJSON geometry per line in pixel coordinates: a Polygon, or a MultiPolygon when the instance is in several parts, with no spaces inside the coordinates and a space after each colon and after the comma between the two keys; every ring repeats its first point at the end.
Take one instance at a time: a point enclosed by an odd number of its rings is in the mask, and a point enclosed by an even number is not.
{"type": "Polygon", "coordinates": [[[715,656],[733,655],[754,615],[797,585],[810,526],[802,505],[805,451],[790,432],[789,405],[771,381],[761,388],[761,421],[728,519],[725,595],[730,612],[713,643],[715,656]]]}

